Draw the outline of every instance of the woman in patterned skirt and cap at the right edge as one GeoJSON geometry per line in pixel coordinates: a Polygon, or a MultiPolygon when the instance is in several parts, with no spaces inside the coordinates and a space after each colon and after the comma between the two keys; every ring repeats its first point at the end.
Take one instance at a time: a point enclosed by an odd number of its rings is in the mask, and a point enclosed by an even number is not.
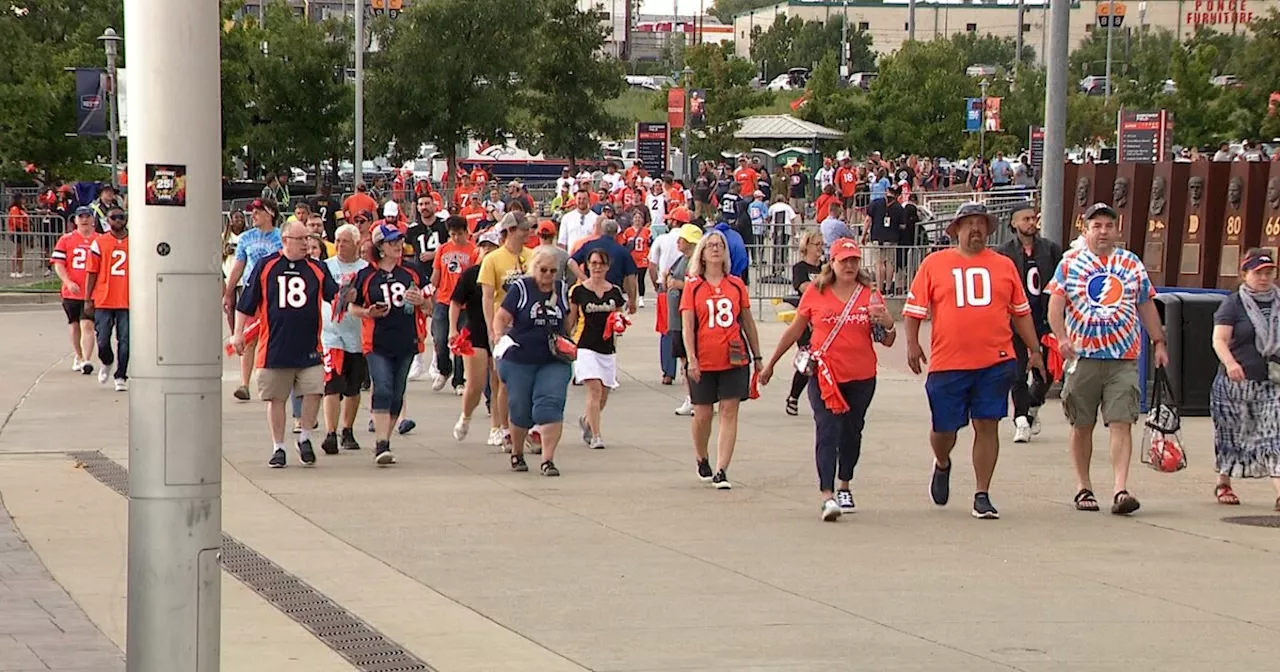
{"type": "Polygon", "coordinates": [[[1271,479],[1280,511],[1280,292],[1270,251],[1249,250],[1244,283],[1213,314],[1222,362],[1210,393],[1220,504],[1239,504],[1231,479],[1271,479]]]}

